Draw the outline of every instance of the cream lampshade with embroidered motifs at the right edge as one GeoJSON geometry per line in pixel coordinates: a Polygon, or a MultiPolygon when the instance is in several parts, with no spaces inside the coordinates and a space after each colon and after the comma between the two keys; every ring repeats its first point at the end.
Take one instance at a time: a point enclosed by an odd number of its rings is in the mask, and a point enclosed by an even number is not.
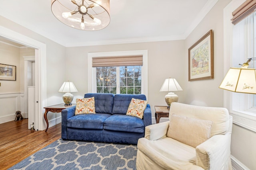
{"type": "Polygon", "coordinates": [[[230,68],[219,88],[232,92],[256,94],[254,68],[230,68]]]}

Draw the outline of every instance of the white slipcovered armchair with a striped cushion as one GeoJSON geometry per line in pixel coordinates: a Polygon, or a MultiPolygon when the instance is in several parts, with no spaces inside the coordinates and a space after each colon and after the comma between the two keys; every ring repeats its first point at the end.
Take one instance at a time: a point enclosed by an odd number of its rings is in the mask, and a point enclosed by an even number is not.
{"type": "Polygon", "coordinates": [[[222,107],[172,103],[169,121],[146,127],[137,170],[231,170],[232,116],[222,107]]]}

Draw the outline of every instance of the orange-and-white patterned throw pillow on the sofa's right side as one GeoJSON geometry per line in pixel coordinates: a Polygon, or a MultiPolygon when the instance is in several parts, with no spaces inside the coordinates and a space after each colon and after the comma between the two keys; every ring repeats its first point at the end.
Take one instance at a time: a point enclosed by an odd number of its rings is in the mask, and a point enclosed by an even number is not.
{"type": "Polygon", "coordinates": [[[130,105],[128,107],[128,110],[126,112],[126,115],[136,116],[142,119],[143,113],[144,113],[144,110],[146,109],[147,104],[148,104],[148,101],[146,100],[132,98],[130,105]]]}

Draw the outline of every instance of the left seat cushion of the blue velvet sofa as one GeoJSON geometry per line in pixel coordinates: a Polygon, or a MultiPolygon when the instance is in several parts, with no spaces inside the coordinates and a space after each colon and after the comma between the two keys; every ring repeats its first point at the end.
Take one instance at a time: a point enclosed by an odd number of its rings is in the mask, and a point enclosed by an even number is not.
{"type": "Polygon", "coordinates": [[[78,129],[103,129],[103,122],[110,116],[111,114],[106,113],[75,115],[67,120],[67,127],[78,129]]]}

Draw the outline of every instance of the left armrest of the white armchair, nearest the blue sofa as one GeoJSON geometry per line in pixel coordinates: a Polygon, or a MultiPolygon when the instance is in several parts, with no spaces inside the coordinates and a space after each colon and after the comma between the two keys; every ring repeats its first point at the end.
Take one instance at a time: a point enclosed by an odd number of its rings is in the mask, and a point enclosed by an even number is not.
{"type": "Polygon", "coordinates": [[[154,141],[166,137],[170,121],[149,125],[145,129],[145,138],[154,141]]]}

